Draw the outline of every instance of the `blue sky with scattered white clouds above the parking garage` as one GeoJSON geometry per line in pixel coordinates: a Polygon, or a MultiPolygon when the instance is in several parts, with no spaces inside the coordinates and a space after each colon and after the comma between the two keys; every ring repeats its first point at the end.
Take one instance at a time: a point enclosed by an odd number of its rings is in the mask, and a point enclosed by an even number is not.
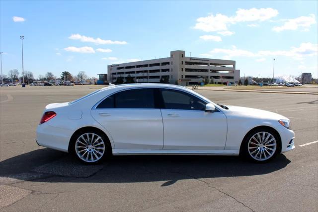
{"type": "Polygon", "coordinates": [[[232,59],[241,76],[318,75],[318,1],[0,1],[3,74],[90,77],[107,65],[186,56],[232,59]],[[99,39],[98,39],[99,38],[99,39]]]}

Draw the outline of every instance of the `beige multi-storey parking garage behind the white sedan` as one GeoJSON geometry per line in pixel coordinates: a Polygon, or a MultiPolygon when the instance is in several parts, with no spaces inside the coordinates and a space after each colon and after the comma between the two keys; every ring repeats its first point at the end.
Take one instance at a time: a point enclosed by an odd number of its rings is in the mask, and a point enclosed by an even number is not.
{"type": "Polygon", "coordinates": [[[169,57],[108,66],[108,82],[115,83],[118,77],[124,82],[128,76],[138,83],[189,85],[213,79],[216,84],[238,83],[239,70],[234,60],[185,57],[185,51],[171,51],[169,57]]]}

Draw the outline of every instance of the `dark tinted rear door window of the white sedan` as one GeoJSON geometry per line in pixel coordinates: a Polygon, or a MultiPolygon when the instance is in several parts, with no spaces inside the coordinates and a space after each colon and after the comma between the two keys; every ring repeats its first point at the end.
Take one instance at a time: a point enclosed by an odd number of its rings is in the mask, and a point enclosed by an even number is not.
{"type": "Polygon", "coordinates": [[[132,89],[114,94],[96,108],[155,108],[154,89],[132,89]]]}

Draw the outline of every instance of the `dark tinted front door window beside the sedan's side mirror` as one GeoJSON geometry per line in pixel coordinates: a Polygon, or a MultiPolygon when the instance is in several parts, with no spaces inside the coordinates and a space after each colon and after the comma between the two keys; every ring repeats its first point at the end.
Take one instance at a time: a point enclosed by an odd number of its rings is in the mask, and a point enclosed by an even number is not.
{"type": "Polygon", "coordinates": [[[205,109],[206,103],[191,94],[169,89],[162,89],[161,94],[166,109],[205,109]]]}

